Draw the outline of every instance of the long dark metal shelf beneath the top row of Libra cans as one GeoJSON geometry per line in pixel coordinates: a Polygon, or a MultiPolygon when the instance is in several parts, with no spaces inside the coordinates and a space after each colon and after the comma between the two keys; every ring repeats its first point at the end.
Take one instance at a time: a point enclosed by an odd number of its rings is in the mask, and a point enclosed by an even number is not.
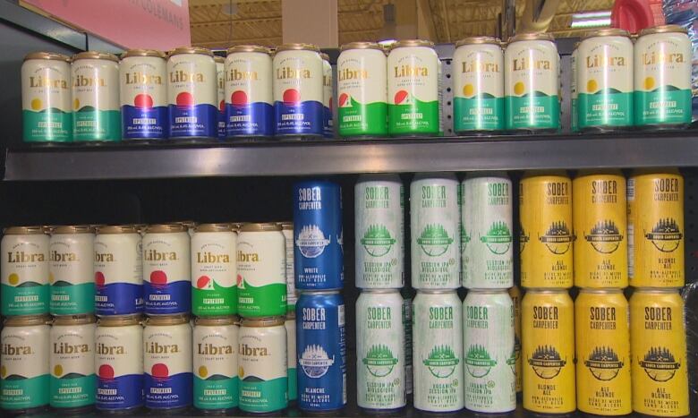
{"type": "Polygon", "coordinates": [[[5,181],[698,166],[698,130],[10,149],[5,181]]]}

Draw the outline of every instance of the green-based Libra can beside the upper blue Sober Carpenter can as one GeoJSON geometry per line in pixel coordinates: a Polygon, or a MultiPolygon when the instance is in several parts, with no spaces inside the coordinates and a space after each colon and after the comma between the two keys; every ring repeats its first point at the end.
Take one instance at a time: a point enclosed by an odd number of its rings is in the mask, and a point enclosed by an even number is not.
{"type": "Polygon", "coordinates": [[[277,224],[245,224],[237,242],[238,311],[244,318],[285,315],[285,239],[277,224]]]}

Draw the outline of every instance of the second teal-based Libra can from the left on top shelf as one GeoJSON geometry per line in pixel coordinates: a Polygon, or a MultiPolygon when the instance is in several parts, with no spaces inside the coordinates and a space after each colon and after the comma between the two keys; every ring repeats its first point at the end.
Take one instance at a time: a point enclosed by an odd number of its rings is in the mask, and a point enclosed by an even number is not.
{"type": "Polygon", "coordinates": [[[72,140],[121,141],[116,55],[85,51],[72,57],[72,140]]]}

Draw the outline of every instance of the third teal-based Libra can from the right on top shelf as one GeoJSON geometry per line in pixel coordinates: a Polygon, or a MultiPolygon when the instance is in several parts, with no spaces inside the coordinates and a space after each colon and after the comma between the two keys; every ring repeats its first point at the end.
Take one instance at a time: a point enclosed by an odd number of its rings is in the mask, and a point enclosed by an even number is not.
{"type": "Polygon", "coordinates": [[[504,53],[507,130],[558,131],[559,61],[549,33],[521,33],[509,40],[504,53]]]}

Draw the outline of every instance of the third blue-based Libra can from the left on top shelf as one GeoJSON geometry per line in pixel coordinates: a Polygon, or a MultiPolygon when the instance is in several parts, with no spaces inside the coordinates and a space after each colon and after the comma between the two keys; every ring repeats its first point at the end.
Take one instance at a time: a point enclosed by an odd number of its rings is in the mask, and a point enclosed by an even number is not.
{"type": "Polygon", "coordinates": [[[226,136],[274,134],[274,97],[268,47],[238,45],[226,58],[226,136]]]}

